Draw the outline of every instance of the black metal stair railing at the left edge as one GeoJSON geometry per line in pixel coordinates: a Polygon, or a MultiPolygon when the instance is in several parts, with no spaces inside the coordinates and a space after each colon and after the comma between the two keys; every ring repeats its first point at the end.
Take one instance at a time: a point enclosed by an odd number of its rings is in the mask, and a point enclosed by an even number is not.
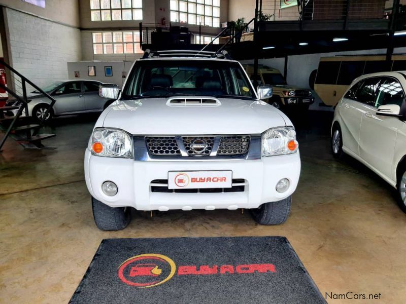
{"type": "MultiPolygon", "coordinates": [[[[48,93],[46,93],[45,91],[43,91],[40,87],[38,87],[36,84],[32,83],[29,79],[27,79],[26,77],[24,77],[21,73],[19,73],[17,70],[15,70],[13,67],[11,67],[9,64],[7,64],[6,62],[0,60],[0,64],[2,64],[5,68],[8,68],[10,70],[10,72],[14,73],[14,85],[18,86],[21,89],[21,93],[22,96],[17,94],[16,91],[13,91],[12,89],[6,87],[5,85],[3,85],[2,83],[0,83],[0,88],[2,88],[3,90],[6,90],[11,96],[13,96],[17,101],[19,101],[20,103],[20,107],[18,108],[17,114],[15,115],[15,117],[13,118],[11,124],[8,126],[7,130],[6,130],[6,134],[5,136],[2,138],[2,141],[0,142],[0,150],[2,149],[7,137],[10,135],[10,132],[13,130],[13,127],[15,125],[15,123],[17,122],[17,120],[21,117],[23,110],[25,110],[25,116],[29,116],[28,113],[28,98],[27,98],[27,84],[30,85],[31,87],[35,88],[38,92],[40,92],[41,94],[44,95],[44,97],[48,98],[49,100],[51,100],[51,103],[48,107],[48,109],[46,110],[44,116],[42,117],[41,121],[40,121],[40,126],[42,126],[45,122],[45,119],[48,117],[49,115],[49,111],[52,109],[52,107],[54,106],[56,99],[53,98],[51,95],[49,95],[48,93]],[[15,75],[17,75],[20,80],[18,80],[15,75]],[[16,82],[19,82],[21,84],[17,85],[16,82]]],[[[36,135],[38,133],[39,129],[35,130],[33,132],[32,135],[36,135]]]]}

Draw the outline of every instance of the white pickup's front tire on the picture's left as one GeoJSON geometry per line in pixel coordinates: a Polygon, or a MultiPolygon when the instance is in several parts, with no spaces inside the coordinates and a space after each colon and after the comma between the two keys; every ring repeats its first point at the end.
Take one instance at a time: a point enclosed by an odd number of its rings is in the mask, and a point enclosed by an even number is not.
{"type": "Polygon", "coordinates": [[[110,207],[92,197],[93,218],[100,230],[122,230],[129,222],[129,207],[110,207]]]}

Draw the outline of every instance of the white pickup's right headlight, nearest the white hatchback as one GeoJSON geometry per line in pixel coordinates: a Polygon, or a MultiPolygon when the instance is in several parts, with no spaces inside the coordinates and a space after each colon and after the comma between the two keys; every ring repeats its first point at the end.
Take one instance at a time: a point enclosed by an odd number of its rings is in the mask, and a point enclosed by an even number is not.
{"type": "Polygon", "coordinates": [[[273,128],[262,134],[262,156],[292,154],[298,146],[293,127],[273,128]]]}

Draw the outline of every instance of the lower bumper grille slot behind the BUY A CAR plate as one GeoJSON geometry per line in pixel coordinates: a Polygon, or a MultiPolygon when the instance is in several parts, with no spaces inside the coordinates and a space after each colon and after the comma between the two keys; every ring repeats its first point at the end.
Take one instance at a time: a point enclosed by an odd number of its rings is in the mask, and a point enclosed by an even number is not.
{"type": "Polygon", "coordinates": [[[199,188],[199,189],[168,189],[167,179],[154,179],[151,181],[151,192],[159,193],[225,193],[244,192],[247,184],[244,178],[233,178],[231,188],[199,188]]]}

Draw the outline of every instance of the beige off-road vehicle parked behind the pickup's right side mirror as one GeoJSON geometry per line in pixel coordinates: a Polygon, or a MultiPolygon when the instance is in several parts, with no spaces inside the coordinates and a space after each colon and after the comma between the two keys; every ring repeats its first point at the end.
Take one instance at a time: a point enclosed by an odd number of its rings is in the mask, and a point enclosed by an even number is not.
{"type": "MultiPolygon", "coordinates": [[[[253,80],[254,65],[246,64],[244,67],[250,79],[253,80]]],[[[276,68],[258,65],[258,77],[261,84],[273,87],[272,97],[265,101],[278,109],[288,107],[309,109],[309,106],[314,102],[311,90],[288,85],[281,72],[276,68]]]]}

